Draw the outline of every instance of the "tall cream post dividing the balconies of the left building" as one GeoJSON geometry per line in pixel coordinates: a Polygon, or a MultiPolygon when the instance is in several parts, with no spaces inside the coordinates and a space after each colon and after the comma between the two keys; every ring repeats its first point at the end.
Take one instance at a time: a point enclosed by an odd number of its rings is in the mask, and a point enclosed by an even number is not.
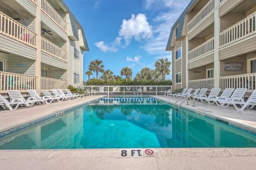
{"type": "Polygon", "coordinates": [[[36,10],[36,91],[38,94],[41,93],[41,6],[42,0],[37,0],[37,10],[36,10]]]}

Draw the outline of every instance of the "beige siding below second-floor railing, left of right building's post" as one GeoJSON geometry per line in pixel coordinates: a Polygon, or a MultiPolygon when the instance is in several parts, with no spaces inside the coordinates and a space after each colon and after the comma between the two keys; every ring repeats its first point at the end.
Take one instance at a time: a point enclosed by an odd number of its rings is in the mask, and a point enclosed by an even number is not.
{"type": "Polygon", "coordinates": [[[200,57],[197,60],[193,60],[188,63],[188,69],[190,70],[190,69],[194,69],[196,67],[202,66],[202,65],[207,65],[207,64],[213,63],[213,60],[214,60],[213,57],[214,56],[211,53],[209,55],[200,57]]]}

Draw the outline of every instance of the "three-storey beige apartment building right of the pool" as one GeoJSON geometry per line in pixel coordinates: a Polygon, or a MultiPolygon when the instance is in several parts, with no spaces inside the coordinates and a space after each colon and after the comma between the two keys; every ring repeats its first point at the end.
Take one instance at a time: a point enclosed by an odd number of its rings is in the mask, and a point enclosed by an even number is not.
{"type": "Polygon", "coordinates": [[[173,88],[256,89],[256,1],[192,0],[171,29],[173,88]]]}

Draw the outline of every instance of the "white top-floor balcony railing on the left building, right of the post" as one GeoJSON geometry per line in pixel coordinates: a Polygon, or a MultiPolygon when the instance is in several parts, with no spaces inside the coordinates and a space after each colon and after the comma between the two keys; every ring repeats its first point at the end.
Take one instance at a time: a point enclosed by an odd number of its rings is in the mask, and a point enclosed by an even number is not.
{"type": "Polygon", "coordinates": [[[46,0],[42,0],[42,11],[49,16],[60,28],[67,32],[67,22],[54,10],[54,8],[46,0]]]}

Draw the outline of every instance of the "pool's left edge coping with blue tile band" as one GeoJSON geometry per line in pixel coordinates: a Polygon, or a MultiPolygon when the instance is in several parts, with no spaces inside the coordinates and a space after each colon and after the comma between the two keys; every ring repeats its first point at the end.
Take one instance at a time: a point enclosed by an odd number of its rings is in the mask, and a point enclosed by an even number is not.
{"type": "Polygon", "coordinates": [[[75,106],[63,108],[63,109],[60,109],[59,111],[54,111],[54,112],[51,112],[49,114],[43,115],[41,117],[34,118],[33,120],[29,120],[29,121],[26,121],[26,122],[22,122],[22,123],[19,123],[19,124],[16,124],[16,125],[9,126],[8,128],[1,129],[0,130],[0,138],[4,138],[9,134],[15,133],[16,131],[19,131],[19,130],[22,130],[22,129],[26,129],[29,126],[33,126],[37,123],[41,123],[41,122],[44,122],[46,120],[50,120],[51,118],[55,118],[55,117],[61,116],[63,114],[67,114],[67,113],[75,110],[76,108],[82,107],[84,105],[89,105],[89,104],[93,103],[94,101],[99,100],[102,97],[104,97],[104,96],[99,96],[99,97],[97,97],[95,99],[92,99],[90,101],[85,101],[85,103],[83,103],[83,104],[78,104],[78,105],[75,105],[75,106]]]}

